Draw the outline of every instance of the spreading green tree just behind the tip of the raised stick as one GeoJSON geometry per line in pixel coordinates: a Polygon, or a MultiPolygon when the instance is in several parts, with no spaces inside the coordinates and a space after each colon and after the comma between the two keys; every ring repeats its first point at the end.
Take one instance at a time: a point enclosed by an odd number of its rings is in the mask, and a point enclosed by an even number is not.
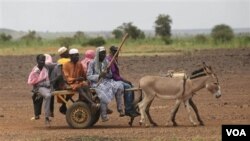
{"type": "Polygon", "coordinates": [[[135,40],[139,38],[140,39],[145,38],[144,32],[138,29],[136,26],[134,26],[132,22],[123,23],[121,26],[117,28],[117,30],[122,31],[122,33],[128,33],[128,35],[135,40]]]}

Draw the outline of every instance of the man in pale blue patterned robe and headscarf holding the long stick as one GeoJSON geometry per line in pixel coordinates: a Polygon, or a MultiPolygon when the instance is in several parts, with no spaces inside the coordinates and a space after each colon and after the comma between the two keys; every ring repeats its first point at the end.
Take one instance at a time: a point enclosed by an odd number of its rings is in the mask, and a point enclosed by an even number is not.
{"type": "Polygon", "coordinates": [[[120,116],[124,116],[123,111],[123,92],[124,87],[122,83],[112,79],[112,73],[107,70],[108,60],[106,59],[106,49],[98,47],[96,49],[96,56],[94,60],[89,63],[87,71],[87,79],[90,85],[95,89],[97,96],[100,99],[101,118],[102,121],[108,121],[107,106],[108,103],[115,97],[117,102],[117,110],[120,116]]]}

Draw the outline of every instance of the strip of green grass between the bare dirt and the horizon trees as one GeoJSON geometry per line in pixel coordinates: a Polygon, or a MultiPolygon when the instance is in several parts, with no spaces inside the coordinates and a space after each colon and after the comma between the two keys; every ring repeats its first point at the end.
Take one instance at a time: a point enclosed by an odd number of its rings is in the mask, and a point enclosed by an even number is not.
{"type": "MultiPolygon", "coordinates": [[[[108,50],[111,45],[119,46],[120,40],[108,39],[104,45],[108,50]]],[[[60,45],[53,41],[31,42],[0,42],[0,55],[34,55],[40,53],[56,54],[60,45]]],[[[205,42],[196,41],[194,37],[188,38],[173,38],[170,45],[164,44],[158,38],[146,38],[140,40],[128,39],[121,49],[122,56],[130,55],[168,55],[179,53],[191,53],[204,49],[220,49],[220,48],[241,48],[250,47],[250,38],[236,37],[234,40],[227,43],[214,43],[208,38],[205,42]]],[[[87,49],[94,49],[93,46],[81,46],[73,44],[70,48],[79,49],[81,54],[87,49]]]]}

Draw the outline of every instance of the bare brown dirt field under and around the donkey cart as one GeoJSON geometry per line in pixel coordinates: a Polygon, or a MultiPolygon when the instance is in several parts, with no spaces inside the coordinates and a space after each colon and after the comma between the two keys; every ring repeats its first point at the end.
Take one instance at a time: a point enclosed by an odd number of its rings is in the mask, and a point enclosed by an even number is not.
{"type": "MultiPolygon", "coordinates": [[[[56,60],[56,57],[54,57],[56,60]]],[[[206,90],[194,96],[205,126],[193,127],[183,104],[176,121],[180,126],[164,126],[173,101],[155,99],[151,108],[158,127],[140,127],[139,118],[134,127],[128,126],[127,117],[120,118],[115,111],[110,121],[90,129],[71,129],[55,103],[52,127],[44,126],[44,113],[38,121],[31,121],[33,108],[31,87],[26,84],[28,73],[35,64],[34,56],[0,56],[0,140],[221,140],[222,124],[250,124],[250,49],[220,49],[196,51],[176,56],[121,57],[121,73],[137,85],[144,75],[163,75],[169,69],[198,69],[205,61],[219,77],[222,97],[215,99],[206,90]]]]}

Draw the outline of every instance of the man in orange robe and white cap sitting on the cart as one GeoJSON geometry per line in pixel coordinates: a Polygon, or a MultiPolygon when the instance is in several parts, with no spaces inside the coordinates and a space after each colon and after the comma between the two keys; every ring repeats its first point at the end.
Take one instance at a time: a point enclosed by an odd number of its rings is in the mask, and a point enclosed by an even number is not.
{"type": "Polygon", "coordinates": [[[86,81],[86,74],[82,67],[81,62],[79,61],[79,52],[77,49],[70,49],[70,62],[67,62],[63,65],[64,77],[74,91],[79,92],[79,100],[87,100],[91,106],[98,107],[89,95],[89,87],[86,81]]]}

